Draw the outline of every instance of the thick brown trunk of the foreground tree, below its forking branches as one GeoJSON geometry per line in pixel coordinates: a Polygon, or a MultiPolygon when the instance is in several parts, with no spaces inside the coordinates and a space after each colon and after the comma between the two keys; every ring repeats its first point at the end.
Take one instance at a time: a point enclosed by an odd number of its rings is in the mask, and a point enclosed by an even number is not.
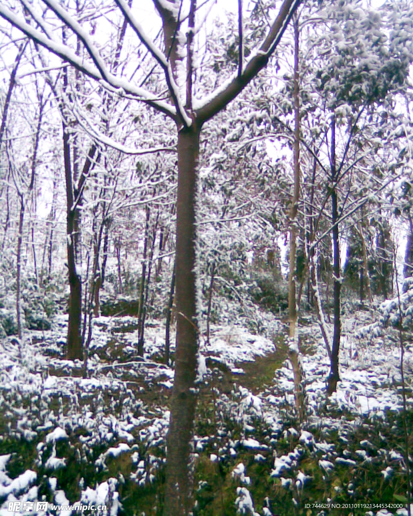
{"type": "MultiPolygon", "coordinates": [[[[195,125],[195,124],[193,124],[195,125]]],[[[177,348],[167,437],[164,516],[186,516],[192,509],[192,457],[197,374],[195,248],[196,177],[199,131],[178,135],[178,199],[176,245],[177,348]]]]}

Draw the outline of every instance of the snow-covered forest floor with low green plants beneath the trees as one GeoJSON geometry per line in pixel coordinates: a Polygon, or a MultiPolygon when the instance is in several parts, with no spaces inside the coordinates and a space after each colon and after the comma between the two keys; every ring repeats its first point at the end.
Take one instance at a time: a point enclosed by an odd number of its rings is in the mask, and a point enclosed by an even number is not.
{"type": "MultiPolygon", "coordinates": [[[[267,335],[282,335],[285,328],[281,323],[266,317],[267,335]]],[[[257,464],[269,464],[269,478],[279,483],[285,496],[290,493],[297,506],[314,476],[305,467],[304,459],[310,456],[317,460],[319,475],[328,476],[338,466],[351,468],[367,464],[374,461],[375,456],[381,457],[380,464],[386,466],[380,473],[383,482],[394,474],[403,473],[403,450],[387,449],[385,444],[377,449],[368,440],[360,440],[357,450],[339,450],[323,437],[336,431],[341,443],[345,443],[347,431],[362,425],[363,421],[384,420],[387,411],[397,412],[402,407],[400,349],[393,341],[387,342],[385,336],[371,341],[357,338],[360,323],[367,323],[368,317],[362,312],[345,319],[340,352],[341,381],[337,393],[329,398],[325,395],[329,363],[321,332],[315,322],[300,327],[301,344],[306,349],[302,365],[308,398],[308,421],[302,428],[285,426],[285,414],[294,412],[293,371],[288,361],[275,370],[271,384],[261,389],[257,386],[254,392],[243,386],[246,368],[243,363],[275,353],[273,338],[255,335],[241,325],[213,325],[210,343],[207,345],[201,339],[203,357],[212,359],[207,363],[212,367],[217,361],[223,362],[227,377],[234,383],[231,392],[221,392],[221,373],[216,370],[214,411],[219,415],[219,424],[215,435],[199,432],[195,435],[195,457],[206,453],[212,462],[234,461],[231,473],[234,511],[273,514],[271,499],[253,500],[250,486],[254,479],[248,472],[250,466],[242,460],[245,453],[252,453],[257,464]],[[225,427],[224,422],[229,420],[237,425],[236,438],[236,432],[225,427]],[[290,443],[289,453],[277,454],[279,440],[290,443]],[[259,512],[255,504],[260,507],[259,512]]],[[[22,513],[55,513],[50,504],[46,510],[36,510],[37,502],[45,500],[62,505],[106,504],[105,510],[89,512],[115,516],[121,511],[120,492],[125,479],[121,473],[115,472],[114,476],[112,461],[126,461],[130,471],[128,481],[142,488],[156,482],[156,473],[164,462],[168,395],[173,382],[173,370],[159,360],[164,346],[164,327],[158,321],[148,321],[142,359],[136,354],[134,317],[96,319],[88,377],[83,378],[80,361],[62,358],[66,325],[65,317],[57,317],[50,332],[26,333],[22,343],[12,338],[0,342],[3,364],[0,370],[0,446],[10,450],[0,456],[0,516],[12,513],[8,510],[12,502],[21,502],[22,513]],[[17,474],[14,466],[11,469],[14,473],[8,469],[13,458],[14,462],[21,460],[22,464],[29,465],[28,457],[19,456],[18,443],[22,442],[33,443],[36,456],[30,467],[22,465],[17,474]],[[72,495],[69,502],[70,493],[59,483],[73,461],[92,463],[101,481],[88,485],[83,477],[76,478],[74,491],[80,496],[75,500],[72,495]],[[27,510],[30,503],[33,510],[27,510]]],[[[174,335],[171,336],[173,342],[174,335]]],[[[409,384],[413,370],[409,345],[404,363],[409,384]]],[[[208,391],[210,380],[211,370],[208,369],[203,389],[208,391]]],[[[413,404],[409,390],[407,403],[409,407],[413,404]]],[[[336,491],[342,489],[340,486],[336,491]]],[[[347,491],[351,496],[350,485],[347,491]]],[[[329,503],[328,499],[331,501],[330,495],[324,502],[329,503]]],[[[15,513],[19,510],[15,509],[15,513]]],[[[75,511],[70,508],[60,511],[60,514],[72,513],[75,511]]],[[[372,508],[369,512],[367,508],[364,513],[383,516],[407,514],[407,511],[396,508],[386,513],[372,508]]]]}

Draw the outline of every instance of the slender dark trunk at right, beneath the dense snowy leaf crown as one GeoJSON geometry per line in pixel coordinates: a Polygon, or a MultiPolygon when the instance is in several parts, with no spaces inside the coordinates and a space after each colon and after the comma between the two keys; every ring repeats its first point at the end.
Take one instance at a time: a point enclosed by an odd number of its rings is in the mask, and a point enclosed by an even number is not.
{"type": "MultiPolygon", "coordinates": [[[[331,181],[336,181],[336,120],[332,117],[331,121],[331,181]]],[[[330,374],[327,380],[328,394],[336,392],[337,382],[340,380],[339,375],[339,351],[341,338],[341,319],[340,319],[340,291],[341,291],[341,274],[340,274],[340,242],[339,242],[339,213],[338,213],[338,197],[336,187],[331,192],[331,215],[332,215],[332,242],[333,242],[333,296],[334,296],[334,334],[332,340],[332,349],[330,357],[330,374]]]]}

